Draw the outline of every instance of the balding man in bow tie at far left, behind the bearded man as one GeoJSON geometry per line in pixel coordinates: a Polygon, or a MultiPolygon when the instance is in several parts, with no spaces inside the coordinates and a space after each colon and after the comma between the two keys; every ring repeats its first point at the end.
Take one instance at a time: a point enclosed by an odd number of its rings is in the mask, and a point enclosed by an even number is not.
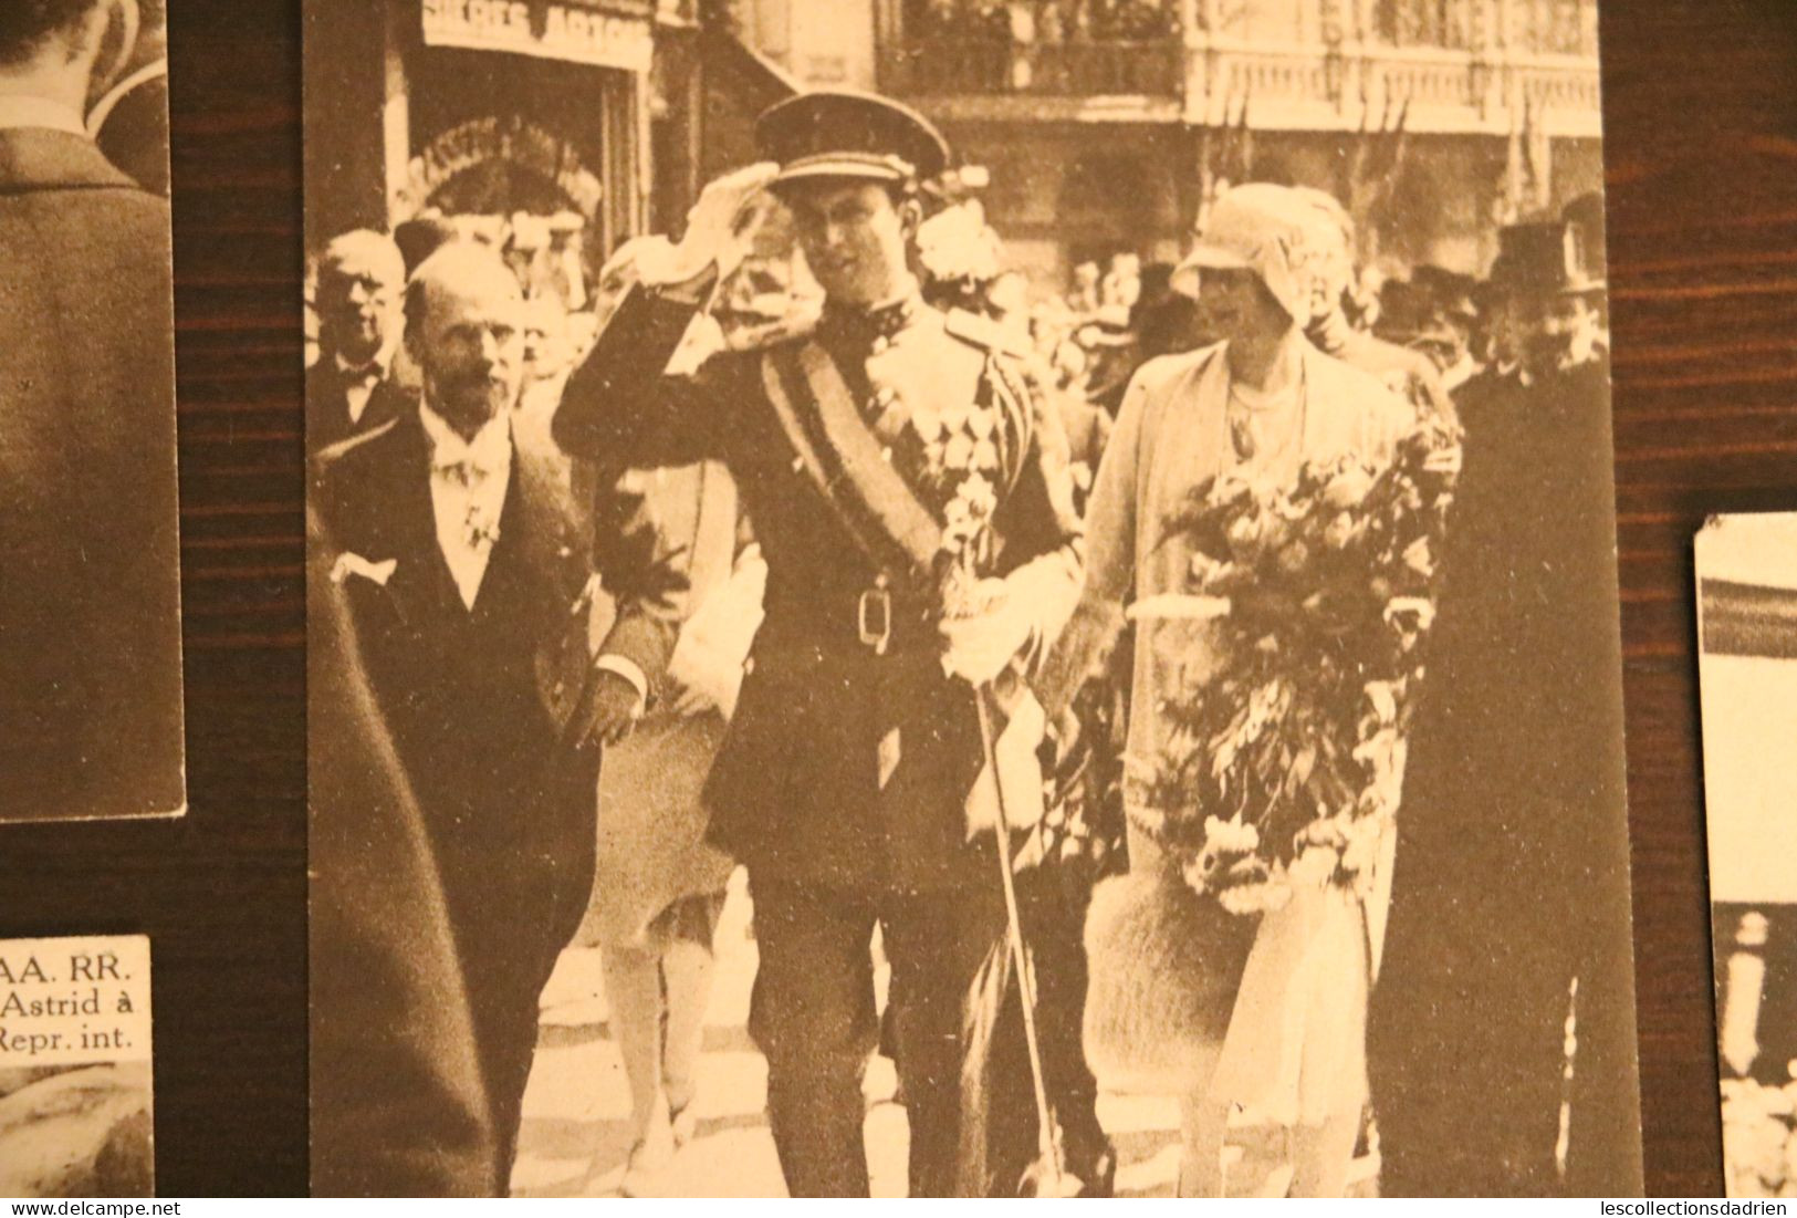
{"type": "Polygon", "coordinates": [[[318,453],[392,419],[376,393],[399,350],[406,264],[394,239],[358,228],[318,259],[318,363],[305,370],[305,446],[318,453]]]}

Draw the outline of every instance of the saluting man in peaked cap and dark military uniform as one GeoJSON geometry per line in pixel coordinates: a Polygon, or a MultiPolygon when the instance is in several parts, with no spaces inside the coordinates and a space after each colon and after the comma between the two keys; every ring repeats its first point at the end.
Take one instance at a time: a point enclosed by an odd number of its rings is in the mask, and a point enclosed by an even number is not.
{"type": "MultiPolygon", "coordinates": [[[[757,142],[775,163],[713,181],[685,239],[640,255],[642,282],[570,379],[555,437],[631,465],[728,462],[762,543],[766,620],[706,801],[713,841],[749,871],[749,1029],[787,1187],[868,1193],[879,927],[911,1195],[1010,1193],[1035,1125],[1014,992],[1003,1001],[976,690],[1015,684],[1078,595],[1066,446],[992,331],[918,296],[916,190],[949,154],[924,119],[807,93],[764,113],[757,142]],[[825,289],[816,329],[663,375],[762,189],[791,207],[825,289]]],[[[996,746],[1012,819],[1040,808],[1028,710],[996,746]]]]}

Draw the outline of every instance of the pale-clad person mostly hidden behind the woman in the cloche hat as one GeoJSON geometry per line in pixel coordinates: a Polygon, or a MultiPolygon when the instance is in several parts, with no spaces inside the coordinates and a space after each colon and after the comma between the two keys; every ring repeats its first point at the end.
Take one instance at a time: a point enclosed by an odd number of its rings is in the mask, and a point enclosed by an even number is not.
{"type": "Polygon", "coordinates": [[[1346,298],[1355,282],[1353,217],[1328,190],[1294,187],[1312,208],[1310,244],[1305,266],[1310,271],[1310,316],[1305,336],[1326,356],[1382,381],[1418,413],[1454,419],[1454,401],[1441,384],[1436,366],[1421,352],[1387,343],[1348,322],[1346,298]]]}

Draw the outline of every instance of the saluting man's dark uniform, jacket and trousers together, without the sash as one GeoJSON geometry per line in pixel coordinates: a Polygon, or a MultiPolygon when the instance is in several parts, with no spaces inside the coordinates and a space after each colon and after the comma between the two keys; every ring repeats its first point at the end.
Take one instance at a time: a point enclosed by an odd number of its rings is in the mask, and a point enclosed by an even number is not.
{"type": "MultiPolygon", "coordinates": [[[[999,1035],[1012,1010],[990,848],[963,805],[983,767],[972,690],[942,670],[936,589],[882,571],[803,471],[769,399],[792,347],[726,352],[663,377],[690,305],[633,289],[568,383],[555,437],[627,465],[719,458],[767,560],[766,620],[712,780],[712,839],[748,864],[760,974],[749,1017],[794,1195],[864,1195],[861,1071],[877,1024],[870,936],[893,961],[911,1195],[1010,1191],[1033,1152],[1028,1067],[999,1035]],[[890,578],[891,638],[863,641],[890,578]],[[1021,1150],[1019,1150],[1021,1148],[1021,1150]],[[1021,1159],[1019,1159],[1021,1153],[1021,1159]]],[[[920,300],[828,311],[810,338],[888,460],[942,519],[958,469],[990,476],[988,575],[1033,632],[1078,595],[1080,526],[1066,442],[972,322],[920,300]]],[[[794,393],[801,426],[816,410],[794,393]]],[[[843,476],[854,478],[854,471],[843,476]]]]}

